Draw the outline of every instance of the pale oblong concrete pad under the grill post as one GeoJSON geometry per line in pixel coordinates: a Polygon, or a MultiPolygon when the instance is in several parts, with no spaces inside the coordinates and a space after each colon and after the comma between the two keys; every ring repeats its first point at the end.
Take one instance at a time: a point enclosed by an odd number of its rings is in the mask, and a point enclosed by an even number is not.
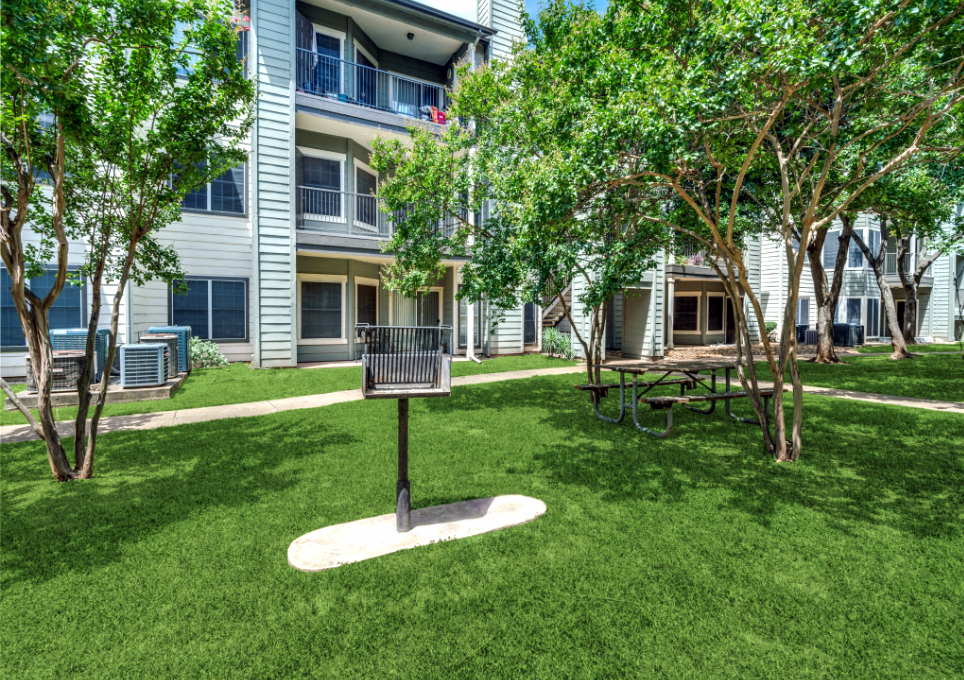
{"type": "Polygon", "coordinates": [[[399,550],[452,541],[531,522],[546,504],[528,496],[495,496],[412,511],[412,530],[395,531],[395,513],[317,529],[288,547],[288,564],[322,571],[399,550]]]}

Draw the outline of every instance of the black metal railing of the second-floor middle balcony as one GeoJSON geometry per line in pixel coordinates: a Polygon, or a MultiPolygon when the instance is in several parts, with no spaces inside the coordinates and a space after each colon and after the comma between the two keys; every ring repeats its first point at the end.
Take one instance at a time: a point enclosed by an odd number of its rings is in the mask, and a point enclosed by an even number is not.
{"type": "MultiPolygon", "coordinates": [[[[389,238],[392,224],[403,220],[405,213],[388,215],[382,211],[380,203],[370,194],[298,187],[298,228],[346,236],[389,238]]],[[[468,211],[463,211],[461,217],[467,220],[468,211]]],[[[451,236],[457,224],[458,220],[450,216],[439,220],[437,228],[451,236]]]]}

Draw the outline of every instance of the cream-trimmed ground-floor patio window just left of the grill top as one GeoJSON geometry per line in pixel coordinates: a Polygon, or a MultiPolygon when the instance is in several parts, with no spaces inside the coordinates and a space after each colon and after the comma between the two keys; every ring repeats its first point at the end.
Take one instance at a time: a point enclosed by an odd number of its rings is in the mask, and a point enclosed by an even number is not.
{"type": "Polygon", "coordinates": [[[298,340],[304,345],[338,345],[345,335],[347,276],[298,276],[298,340]]]}

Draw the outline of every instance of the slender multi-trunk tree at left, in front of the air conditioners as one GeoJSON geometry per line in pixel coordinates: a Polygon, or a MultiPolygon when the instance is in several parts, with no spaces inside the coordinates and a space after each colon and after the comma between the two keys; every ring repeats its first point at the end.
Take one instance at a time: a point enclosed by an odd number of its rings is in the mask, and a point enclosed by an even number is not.
{"type": "MultiPolygon", "coordinates": [[[[44,439],[51,469],[60,480],[93,475],[97,426],[109,382],[108,368],[88,425],[94,340],[104,284],[117,286],[111,304],[109,367],[128,280],[141,284],[158,277],[171,283],[182,277],[177,253],[163,246],[156,232],[179,219],[186,193],[243,161],[241,145],[251,125],[253,85],[237,57],[238,29],[229,21],[230,4],[162,0],[145,6],[115,0],[103,9],[103,16],[88,33],[77,34],[67,26],[65,34],[58,36],[69,44],[82,45],[73,66],[83,83],[83,96],[75,103],[76,115],[66,117],[54,110],[53,118],[56,128],[63,131],[60,167],[68,178],[59,200],[75,235],[89,244],[82,272],[92,292],[87,361],[78,384],[73,466],[59,437],[50,434],[49,385],[48,398],[38,400],[40,421],[49,421],[49,425],[38,425],[19,405],[44,439]]],[[[30,31],[53,33],[43,25],[34,26],[29,15],[14,12],[11,16],[14,21],[5,31],[18,40],[30,31]]],[[[48,110],[54,103],[44,98],[46,79],[62,74],[56,64],[50,67],[51,75],[30,70],[29,58],[25,62],[18,77],[34,78],[39,94],[25,91],[18,105],[25,110],[48,110]]],[[[56,200],[56,190],[53,195],[56,200]]],[[[18,206],[18,229],[29,220],[31,228],[44,238],[56,233],[43,218],[45,200],[44,192],[34,192],[31,202],[18,206]]],[[[7,231],[6,224],[4,227],[7,231]]],[[[18,261],[33,267],[46,261],[43,249],[25,249],[22,244],[17,248],[13,241],[4,245],[5,264],[8,259],[14,264],[13,269],[7,264],[12,278],[18,261]]],[[[24,295],[29,300],[29,291],[24,295]]],[[[43,319],[44,327],[43,333],[33,333],[28,339],[31,357],[35,349],[38,355],[49,357],[46,308],[32,301],[26,307],[28,313],[43,319]]],[[[21,314],[26,331],[24,318],[21,314]]]]}

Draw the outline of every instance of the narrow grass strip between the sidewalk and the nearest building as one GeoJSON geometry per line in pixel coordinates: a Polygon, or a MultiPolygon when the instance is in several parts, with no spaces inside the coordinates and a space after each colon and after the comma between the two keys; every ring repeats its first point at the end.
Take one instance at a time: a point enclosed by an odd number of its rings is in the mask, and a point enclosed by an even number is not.
{"type": "MultiPolygon", "coordinates": [[[[477,375],[573,365],[575,362],[565,359],[554,359],[541,354],[525,354],[486,359],[481,364],[472,361],[456,361],[452,363],[452,375],[477,375]]],[[[265,399],[338,392],[359,387],[361,387],[361,368],[358,366],[257,369],[248,364],[231,364],[223,368],[194,369],[170,399],[107,404],[104,406],[104,415],[121,416],[202,406],[241,404],[265,399]]],[[[22,390],[24,386],[16,386],[16,389],[22,390]]],[[[54,409],[54,418],[57,420],[73,420],[76,417],[76,408],[54,409]]],[[[0,425],[18,425],[24,422],[26,421],[19,411],[0,413],[0,425]]]]}

